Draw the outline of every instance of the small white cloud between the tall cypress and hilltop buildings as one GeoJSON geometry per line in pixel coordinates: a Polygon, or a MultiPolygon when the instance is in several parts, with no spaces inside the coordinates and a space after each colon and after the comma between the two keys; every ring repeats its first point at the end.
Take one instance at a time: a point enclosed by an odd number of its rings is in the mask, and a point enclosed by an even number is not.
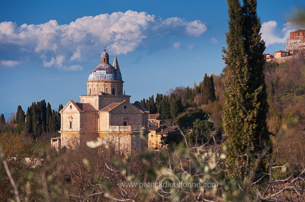
{"type": "Polygon", "coordinates": [[[276,21],[264,22],[261,27],[261,36],[265,41],[266,46],[272,44],[285,44],[286,39],[289,38],[289,33],[294,31],[290,22],[284,24],[284,28],[278,29],[276,21]]]}

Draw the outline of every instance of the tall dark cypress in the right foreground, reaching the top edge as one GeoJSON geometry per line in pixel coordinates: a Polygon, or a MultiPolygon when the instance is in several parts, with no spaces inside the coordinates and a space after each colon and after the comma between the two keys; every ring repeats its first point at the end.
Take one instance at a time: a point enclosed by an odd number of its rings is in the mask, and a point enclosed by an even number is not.
{"type": "Polygon", "coordinates": [[[256,0],[227,0],[229,32],[224,50],[227,84],[224,131],[228,172],[246,183],[267,172],[271,141],[266,125],[268,110],[263,75],[264,42],[259,34],[256,0]]]}

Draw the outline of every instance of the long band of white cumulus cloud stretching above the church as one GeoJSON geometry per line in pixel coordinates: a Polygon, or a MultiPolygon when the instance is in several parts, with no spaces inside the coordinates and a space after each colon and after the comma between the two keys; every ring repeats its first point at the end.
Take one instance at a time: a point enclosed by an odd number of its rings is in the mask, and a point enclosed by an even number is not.
{"type": "Polygon", "coordinates": [[[85,16],[63,25],[56,20],[21,26],[1,22],[0,45],[13,45],[23,53],[38,54],[45,67],[79,70],[76,62],[104,47],[110,53],[127,54],[154,37],[198,37],[206,30],[200,20],[162,19],[146,12],[127,11],[85,16]]]}

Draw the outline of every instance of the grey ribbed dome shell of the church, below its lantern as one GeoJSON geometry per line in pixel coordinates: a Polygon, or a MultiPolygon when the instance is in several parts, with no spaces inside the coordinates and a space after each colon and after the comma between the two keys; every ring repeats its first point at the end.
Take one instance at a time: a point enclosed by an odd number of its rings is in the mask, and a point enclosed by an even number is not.
{"type": "Polygon", "coordinates": [[[122,76],[111,64],[101,63],[90,73],[88,80],[122,80],[122,76]]]}

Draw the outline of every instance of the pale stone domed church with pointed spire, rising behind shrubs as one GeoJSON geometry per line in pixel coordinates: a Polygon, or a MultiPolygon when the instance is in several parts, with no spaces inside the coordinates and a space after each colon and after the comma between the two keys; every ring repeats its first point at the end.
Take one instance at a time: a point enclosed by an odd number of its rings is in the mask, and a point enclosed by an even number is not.
{"type": "Polygon", "coordinates": [[[88,77],[86,95],[79,96],[80,102],[70,100],[59,111],[60,137],[52,138],[51,144],[71,147],[106,137],[128,152],[147,147],[149,111],[138,101],[130,103],[123,83],[117,58],[109,64],[105,49],[101,63],[88,77]]]}

